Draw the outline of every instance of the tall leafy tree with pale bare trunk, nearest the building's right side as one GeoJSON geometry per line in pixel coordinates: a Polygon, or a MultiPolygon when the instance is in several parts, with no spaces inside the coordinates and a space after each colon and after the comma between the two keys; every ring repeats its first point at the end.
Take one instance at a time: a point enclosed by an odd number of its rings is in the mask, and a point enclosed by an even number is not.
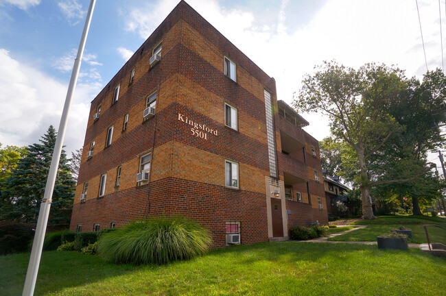
{"type": "Polygon", "coordinates": [[[406,170],[408,176],[398,180],[384,180],[384,171],[375,170],[383,165],[379,162],[386,160],[382,152],[384,146],[390,138],[405,130],[388,110],[393,102],[407,96],[408,81],[403,71],[384,64],[365,64],[355,70],[332,61],[316,68],[314,75],[304,77],[294,107],[304,112],[320,111],[329,117],[333,137],[348,145],[354,153],[350,162],[357,166],[351,167],[350,173],[352,181],[360,188],[362,218],[374,219],[372,186],[408,182],[430,169],[421,166],[421,171],[406,170]]]}

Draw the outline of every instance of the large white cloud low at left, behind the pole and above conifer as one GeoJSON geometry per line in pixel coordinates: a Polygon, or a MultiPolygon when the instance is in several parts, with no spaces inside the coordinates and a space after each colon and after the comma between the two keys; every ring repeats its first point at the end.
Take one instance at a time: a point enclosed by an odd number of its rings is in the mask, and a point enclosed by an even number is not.
{"type": "MultiPolygon", "coordinates": [[[[38,143],[49,125],[58,128],[68,82],[27,66],[5,49],[0,49],[0,65],[0,143],[38,143]]],[[[101,88],[97,81],[78,83],[64,140],[68,152],[83,145],[90,101],[101,88]]]]}

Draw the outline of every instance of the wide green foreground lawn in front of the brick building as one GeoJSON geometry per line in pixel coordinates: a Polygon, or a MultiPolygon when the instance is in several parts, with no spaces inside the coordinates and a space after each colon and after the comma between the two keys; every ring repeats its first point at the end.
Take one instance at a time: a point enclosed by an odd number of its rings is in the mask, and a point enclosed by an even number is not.
{"type": "MultiPolygon", "coordinates": [[[[21,295],[30,254],[0,257],[0,294],[21,295]]],[[[44,252],[35,295],[446,295],[446,260],[419,249],[259,243],[165,266],[44,252]]]]}

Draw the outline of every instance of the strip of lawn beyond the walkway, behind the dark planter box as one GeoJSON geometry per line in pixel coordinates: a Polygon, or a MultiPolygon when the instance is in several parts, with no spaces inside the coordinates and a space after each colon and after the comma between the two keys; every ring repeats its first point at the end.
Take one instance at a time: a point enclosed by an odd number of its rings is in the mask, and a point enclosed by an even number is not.
{"type": "MultiPolygon", "coordinates": [[[[397,228],[399,225],[368,225],[367,227],[341,234],[328,240],[336,241],[376,241],[376,237],[390,230],[397,228]]],[[[424,227],[421,224],[405,224],[407,228],[412,230],[412,241],[410,243],[427,243],[424,227]]],[[[335,228],[336,229],[336,228],[335,228]]],[[[429,237],[431,243],[445,243],[446,244],[446,230],[438,227],[428,227],[429,237]]]]}

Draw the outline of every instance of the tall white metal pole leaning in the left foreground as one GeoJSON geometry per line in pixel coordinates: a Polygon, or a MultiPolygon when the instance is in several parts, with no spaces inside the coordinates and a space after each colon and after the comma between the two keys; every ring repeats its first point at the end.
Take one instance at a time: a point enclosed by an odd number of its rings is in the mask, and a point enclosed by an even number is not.
{"type": "Polygon", "coordinates": [[[32,244],[30,263],[28,264],[25,285],[23,286],[23,296],[32,296],[34,294],[34,288],[36,287],[38,266],[40,264],[43,240],[45,238],[45,232],[47,230],[49,209],[51,208],[51,199],[53,196],[54,183],[56,182],[56,175],[59,167],[60,153],[62,152],[65,130],[67,129],[71,99],[76,87],[76,82],[78,82],[79,69],[82,61],[82,55],[84,54],[86,36],[89,34],[91,16],[93,15],[95,3],[96,0],[90,1],[89,11],[87,12],[85,20],[84,31],[82,32],[82,37],[80,38],[78,56],[76,56],[73,65],[73,71],[71,72],[71,79],[68,86],[67,97],[65,99],[64,109],[62,111],[62,117],[60,118],[56,145],[54,145],[53,157],[51,158],[51,167],[49,167],[47,185],[45,186],[45,193],[43,195],[42,203],[40,204],[40,212],[38,214],[36,234],[34,235],[34,243],[32,244]]]}

